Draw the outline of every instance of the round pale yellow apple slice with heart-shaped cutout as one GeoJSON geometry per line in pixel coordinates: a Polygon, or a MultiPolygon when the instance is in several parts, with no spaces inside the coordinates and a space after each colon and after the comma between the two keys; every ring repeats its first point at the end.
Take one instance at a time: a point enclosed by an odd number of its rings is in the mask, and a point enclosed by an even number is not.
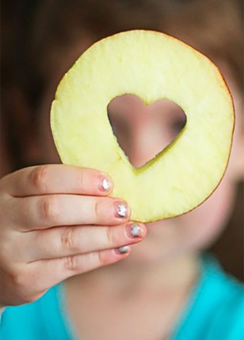
{"type": "Polygon", "coordinates": [[[111,196],[128,202],[133,220],[149,222],[181,215],[215,190],[229,159],[234,110],[220,71],[202,53],[161,32],[132,30],[95,43],[64,75],[51,128],[63,163],[108,173],[111,196]],[[107,116],[110,101],[125,93],[146,105],[171,100],[187,117],[177,138],[139,169],[107,116]]]}

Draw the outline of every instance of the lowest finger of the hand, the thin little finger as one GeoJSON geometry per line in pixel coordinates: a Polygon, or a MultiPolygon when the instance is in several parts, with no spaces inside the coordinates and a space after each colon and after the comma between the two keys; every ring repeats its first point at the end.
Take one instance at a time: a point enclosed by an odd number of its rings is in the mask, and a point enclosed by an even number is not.
{"type": "Polygon", "coordinates": [[[119,249],[105,249],[82,255],[35,261],[28,264],[28,276],[35,277],[37,290],[44,291],[67,277],[118,262],[126,258],[132,250],[131,246],[120,249],[122,252],[119,249]],[[37,278],[37,275],[40,275],[40,278],[37,278]]]}

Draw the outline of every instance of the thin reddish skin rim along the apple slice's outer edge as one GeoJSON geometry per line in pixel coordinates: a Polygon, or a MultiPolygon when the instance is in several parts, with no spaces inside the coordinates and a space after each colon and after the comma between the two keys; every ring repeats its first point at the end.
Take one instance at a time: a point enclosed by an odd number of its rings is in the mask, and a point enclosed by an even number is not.
{"type": "MultiPolygon", "coordinates": [[[[109,36],[109,37],[104,37],[104,38],[100,39],[99,41],[101,42],[102,40],[112,38],[112,37],[114,37],[114,36],[116,36],[116,35],[118,35],[118,34],[120,34],[120,33],[122,33],[122,32],[127,32],[127,31],[130,31],[130,30],[124,30],[124,31],[121,31],[121,32],[119,32],[119,33],[115,33],[115,34],[113,34],[113,35],[111,35],[111,36],[109,36]]],[[[230,96],[230,99],[231,99],[232,114],[233,114],[233,128],[232,128],[232,132],[231,132],[231,141],[230,141],[230,148],[229,148],[228,158],[227,158],[227,161],[226,161],[226,166],[225,166],[225,169],[224,169],[224,172],[223,172],[222,177],[220,178],[220,180],[219,180],[218,184],[216,185],[216,187],[214,188],[214,190],[213,190],[213,191],[212,191],[212,192],[211,192],[211,193],[203,200],[203,202],[201,202],[200,204],[196,205],[195,207],[193,207],[193,208],[191,208],[191,209],[189,209],[189,210],[187,210],[187,211],[185,211],[185,212],[183,212],[183,213],[181,213],[181,214],[178,214],[178,215],[175,215],[175,216],[170,216],[170,217],[164,218],[164,219],[166,220],[166,219],[171,219],[171,218],[174,218],[174,217],[177,217],[177,216],[184,215],[184,214],[186,214],[186,213],[188,213],[188,212],[190,212],[190,211],[196,209],[196,208],[199,207],[201,204],[203,204],[203,203],[204,203],[204,202],[205,202],[205,201],[206,201],[206,200],[207,200],[207,199],[215,192],[215,190],[216,190],[216,189],[218,188],[218,186],[220,185],[221,181],[222,181],[223,178],[224,178],[224,174],[225,174],[225,172],[226,172],[226,169],[227,169],[227,166],[228,166],[228,163],[229,163],[229,159],[230,159],[231,148],[232,148],[232,144],[233,144],[234,129],[235,129],[235,125],[236,125],[236,113],[235,113],[235,108],[234,108],[233,96],[232,96],[232,94],[231,94],[231,92],[230,92],[230,89],[229,89],[227,83],[226,83],[226,80],[224,79],[224,76],[223,76],[222,72],[220,71],[220,69],[215,65],[215,63],[212,61],[212,59],[211,59],[210,57],[206,56],[203,52],[199,51],[197,48],[195,48],[195,47],[193,47],[193,46],[191,46],[191,45],[189,45],[189,44],[183,42],[182,40],[178,39],[177,37],[175,37],[175,36],[173,36],[173,35],[168,35],[168,34],[166,34],[166,33],[164,33],[164,32],[156,31],[156,30],[138,29],[138,31],[144,31],[144,32],[151,31],[151,32],[156,33],[156,34],[157,34],[157,33],[158,33],[158,34],[162,34],[162,33],[163,33],[163,34],[166,35],[168,38],[178,40],[178,41],[179,41],[180,43],[182,43],[183,45],[186,45],[187,47],[190,47],[191,49],[194,50],[194,52],[197,52],[197,53],[200,53],[200,54],[204,55],[204,56],[211,62],[211,64],[214,66],[214,68],[216,68],[217,72],[220,74],[221,78],[222,78],[223,81],[224,81],[225,91],[228,92],[228,94],[229,94],[229,96],[230,96]]],[[[94,44],[96,44],[96,42],[95,42],[94,44]]],[[[94,45],[94,44],[92,44],[92,45],[94,45]]],[[[91,46],[90,46],[90,47],[91,47],[91,46]]],[[[71,67],[71,68],[72,68],[72,67],[71,67]]],[[[65,77],[65,75],[66,75],[66,73],[63,75],[63,77],[61,78],[61,80],[65,77]]],[[[60,82],[61,82],[61,80],[60,80],[60,82]]],[[[223,87],[223,85],[221,85],[221,87],[223,87]]],[[[55,93],[55,99],[56,99],[56,93],[55,93]]],[[[162,221],[162,220],[164,220],[164,219],[150,220],[150,221],[147,221],[146,223],[156,222],[156,221],[162,221]]]]}

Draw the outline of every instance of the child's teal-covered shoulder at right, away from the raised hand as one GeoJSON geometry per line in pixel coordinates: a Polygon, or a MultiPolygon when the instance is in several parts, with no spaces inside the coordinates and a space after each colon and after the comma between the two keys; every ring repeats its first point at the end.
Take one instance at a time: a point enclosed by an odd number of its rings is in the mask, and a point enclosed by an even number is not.
{"type": "Polygon", "coordinates": [[[191,293],[174,340],[244,339],[244,286],[211,255],[201,259],[201,276],[191,293]]]}

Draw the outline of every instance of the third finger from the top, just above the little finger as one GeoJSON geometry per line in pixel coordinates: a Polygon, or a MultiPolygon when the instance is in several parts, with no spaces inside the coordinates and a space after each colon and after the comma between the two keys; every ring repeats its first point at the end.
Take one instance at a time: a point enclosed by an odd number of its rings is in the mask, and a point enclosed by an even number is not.
{"type": "Polygon", "coordinates": [[[28,249],[28,257],[22,260],[32,262],[138,243],[146,236],[146,227],[129,222],[115,227],[55,227],[21,234],[20,242],[28,249]]]}

